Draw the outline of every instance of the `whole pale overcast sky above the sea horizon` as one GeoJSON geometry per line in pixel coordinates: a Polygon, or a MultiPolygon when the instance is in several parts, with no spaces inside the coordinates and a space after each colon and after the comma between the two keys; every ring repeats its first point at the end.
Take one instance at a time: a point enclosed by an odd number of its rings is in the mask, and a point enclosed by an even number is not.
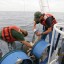
{"type": "MultiPolygon", "coordinates": [[[[41,0],[0,0],[0,11],[37,11],[41,0]]],[[[64,12],[64,0],[42,0],[43,10],[64,12]]]]}

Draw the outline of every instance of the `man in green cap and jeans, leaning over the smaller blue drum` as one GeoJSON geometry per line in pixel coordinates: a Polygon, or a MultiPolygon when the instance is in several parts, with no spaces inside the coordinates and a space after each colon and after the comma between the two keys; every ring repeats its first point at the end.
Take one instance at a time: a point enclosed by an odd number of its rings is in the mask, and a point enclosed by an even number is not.
{"type": "MultiPolygon", "coordinates": [[[[51,38],[52,38],[52,31],[53,31],[53,26],[56,24],[57,21],[55,17],[52,14],[45,14],[41,13],[39,11],[34,13],[34,32],[35,34],[39,37],[41,36],[40,39],[45,40],[46,36],[49,35],[49,43],[51,43],[51,38]],[[39,32],[36,30],[36,24],[41,24],[43,25],[43,32],[39,32]]],[[[48,48],[49,52],[50,47],[48,48]]]]}

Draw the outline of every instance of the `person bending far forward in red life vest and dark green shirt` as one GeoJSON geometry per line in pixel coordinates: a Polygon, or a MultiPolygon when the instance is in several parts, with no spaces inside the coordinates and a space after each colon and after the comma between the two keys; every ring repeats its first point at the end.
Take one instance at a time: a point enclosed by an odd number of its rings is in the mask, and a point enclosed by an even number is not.
{"type": "Polygon", "coordinates": [[[17,26],[7,26],[0,32],[0,39],[10,44],[13,44],[14,41],[19,41],[20,43],[32,48],[32,45],[24,39],[27,35],[28,32],[26,30],[20,29],[17,26]]]}

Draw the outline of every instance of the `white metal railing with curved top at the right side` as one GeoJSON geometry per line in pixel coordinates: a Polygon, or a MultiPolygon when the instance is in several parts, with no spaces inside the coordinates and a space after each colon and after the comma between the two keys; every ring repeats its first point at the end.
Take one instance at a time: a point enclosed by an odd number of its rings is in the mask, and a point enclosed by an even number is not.
{"type": "Polygon", "coordinates": [[[49,58],[48,58],[48,64],[53,64],[53,63],[57,60],[57,58],[55,58],[54,60],[52,60],[52,61],[50,62],[55,31],[57,31],[58,33],[60,33],[61,35],[64,36],[64,32],[61,31],[58,27],[64,28],[64,23],[57,23],[57,24],[54,25],[53,35],[52,35],[52,40],[51,40],[51,46],[50,46],[50,53],[49,53],[49,58]]]}

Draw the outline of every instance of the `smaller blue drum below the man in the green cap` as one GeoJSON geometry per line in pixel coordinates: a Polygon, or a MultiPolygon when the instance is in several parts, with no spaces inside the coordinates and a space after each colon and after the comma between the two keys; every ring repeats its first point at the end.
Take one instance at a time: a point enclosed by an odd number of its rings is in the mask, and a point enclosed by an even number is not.
{"type": "Polygon", "coordinates": [[[48,47],[48,43],[44,40],[40,40],[36,42],[36,44],[33,46],[31,53],[35,55],[37,58],[40,58],[44,52],[44,50],[48,47]]]}

